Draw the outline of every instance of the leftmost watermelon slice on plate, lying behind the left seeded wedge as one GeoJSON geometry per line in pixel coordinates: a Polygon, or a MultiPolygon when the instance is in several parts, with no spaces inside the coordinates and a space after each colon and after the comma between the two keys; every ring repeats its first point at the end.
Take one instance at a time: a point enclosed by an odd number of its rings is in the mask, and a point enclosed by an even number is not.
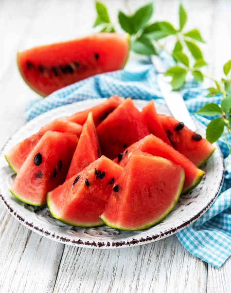
{"type": "Polygon", "coordinates": [[[6,155],[6,161],[11,169],[17,174],[22,164],[25,162],[31,150],[36,146],[40,138],[48,130],[58,132],[70,132],[76,134],[78,137],[82,131],[82,126],[76,123],[67,121],[66,119],[55,119],[49,124],[43,126],[39,132],[24,139],[22,142],[14,146],[6,155]]]}

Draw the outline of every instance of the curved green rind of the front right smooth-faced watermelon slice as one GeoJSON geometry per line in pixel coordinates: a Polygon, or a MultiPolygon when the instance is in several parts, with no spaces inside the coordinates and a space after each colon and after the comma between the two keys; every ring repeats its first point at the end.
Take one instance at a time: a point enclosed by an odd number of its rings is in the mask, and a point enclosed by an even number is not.
{"type": "Polygon", "coordinates": [[[149,227],[152,227],[153,225],[159,223],[163,218],[165,218],[169,213],[170,211],[176,206],[177,202],[178,202],[178,199],[180,197],[180,194],[181,194],[181,191],[182,191],[182,188],[183,188],[183,185],[184,185],[184,171],[182,170],[182,178],[181,178],[181,183],[180,183],[180,186],[179,186],[179,189],[178,189],[178,193],[175,197],[175,200],[172,204],[172,206],[158,219],[156,219],[155,221],[153,222],[149,222],[148,224],[145,224],[139,228],[134,228],[134,229],[126,229],[124,227],[120,227],[118,225],[113,225],[113,224],[110,224],[109,221],[107,221],[103,215],[100,216],[100,219],[110,228],[114,228],[114,229],[119,229],[119,230],[123,230],[123,231],[138,231],[138,230],[144,230],[144,229],[147,229],[149,227]]]}

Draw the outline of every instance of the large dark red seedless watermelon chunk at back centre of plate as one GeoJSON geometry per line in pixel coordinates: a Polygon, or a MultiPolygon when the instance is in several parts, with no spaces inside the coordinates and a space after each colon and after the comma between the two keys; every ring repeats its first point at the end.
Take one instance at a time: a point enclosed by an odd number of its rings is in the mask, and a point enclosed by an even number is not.
{"type": "Polygon", "coordinates": [[[113,159],[123,152],[124,148],[150,132],[141,112],[128,98],[97,127],[97,133],[102,154],[113,159]]]}

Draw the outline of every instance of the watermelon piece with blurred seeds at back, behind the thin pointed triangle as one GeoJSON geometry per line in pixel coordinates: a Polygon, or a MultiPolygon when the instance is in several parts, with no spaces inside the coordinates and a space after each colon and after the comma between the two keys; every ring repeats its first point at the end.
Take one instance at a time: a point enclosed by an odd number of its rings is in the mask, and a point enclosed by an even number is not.
{"type": "Polygon", "coordinates": [[[77,112],[69,117],[67,119],[69,121],[84,125],[88,118],[89,112],[92,112],[95,126],[97,127],[107,116],[115,110],[120,104],[124,102],[124,98],[121,98],[119,96],[112,96],[108,98],[105,102],[93,106],[92,108],[89,108],[87,110],[77,112]]]}

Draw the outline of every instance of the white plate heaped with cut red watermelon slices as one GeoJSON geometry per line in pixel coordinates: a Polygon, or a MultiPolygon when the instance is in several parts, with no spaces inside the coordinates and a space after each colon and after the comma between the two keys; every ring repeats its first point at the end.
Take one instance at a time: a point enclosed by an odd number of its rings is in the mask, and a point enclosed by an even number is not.
{"type": "Polygon", "coordinates": [[[20,128],[0,153],[0,198],[24,226],[52,240],[121,248],[167,237],[213,204],[224,159],[165,105],[86,100],[20,128]],[[17,174],[17,175],[16,175],[17,174]]]}

